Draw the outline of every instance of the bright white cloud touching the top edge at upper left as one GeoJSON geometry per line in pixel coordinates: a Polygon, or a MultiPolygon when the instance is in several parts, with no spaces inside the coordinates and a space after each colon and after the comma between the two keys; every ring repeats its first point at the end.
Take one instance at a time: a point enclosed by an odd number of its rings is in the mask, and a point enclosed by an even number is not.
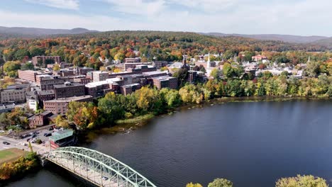
{"type": "Polygon", "coordinates": [[[33,4],[43,4],[45,6],[63,8],[63,9],[79,9],[79,0],[24,0],[33,4]]]}

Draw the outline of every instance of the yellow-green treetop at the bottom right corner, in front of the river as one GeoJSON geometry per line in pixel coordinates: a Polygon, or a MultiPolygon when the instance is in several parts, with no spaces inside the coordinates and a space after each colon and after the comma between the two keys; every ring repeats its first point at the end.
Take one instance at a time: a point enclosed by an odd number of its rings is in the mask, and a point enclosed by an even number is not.
{"type": "Polygon", "coordinates": [[[326,181],[319,177],[314,176],[301,176],[297,175],[295,177],[282,178],[279,179],[276,187],[328,187],[326,181]]]}

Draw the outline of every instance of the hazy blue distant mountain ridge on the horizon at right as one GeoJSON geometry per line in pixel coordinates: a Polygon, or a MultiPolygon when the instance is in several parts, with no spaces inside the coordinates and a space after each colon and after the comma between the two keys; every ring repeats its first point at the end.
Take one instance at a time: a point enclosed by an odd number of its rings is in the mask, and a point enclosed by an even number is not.
{"type": "Polygon", "coordinates": [[[224,34],[224,33],[201,33],[203,35],[213,35],[219,37],[225,36],[239,36],[243,38],[253,38],[256,40],[278,40],[283,42],[293,42],[293,43],[311,43],[311,42],[319,42],[321,40],[332,39],[325,36],[301,36],[301,35],[241,35],[241,34],[224,34]]]}

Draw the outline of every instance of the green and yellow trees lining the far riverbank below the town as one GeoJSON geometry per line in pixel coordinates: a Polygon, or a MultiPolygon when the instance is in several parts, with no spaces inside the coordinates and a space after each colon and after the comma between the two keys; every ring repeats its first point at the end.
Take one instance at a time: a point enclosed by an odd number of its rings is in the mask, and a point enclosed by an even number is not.
{"type": "Polygon", "coordinates": [[[126,96],[110,92],[95,103],[71,102],[67,119],[58,116],[55,123],[66,127],[74,122],[82,129],[96,128],[105,124],[112,125],[120,119],[167,113],[182,104],[241,96],[331,97],[332,79],[326,75],[287,79],[287,76],[272,77],[272,74],[264,74],[253,80],[211,79],[206,84],[185,84],[179,91],[143,87],[126,96]]]}

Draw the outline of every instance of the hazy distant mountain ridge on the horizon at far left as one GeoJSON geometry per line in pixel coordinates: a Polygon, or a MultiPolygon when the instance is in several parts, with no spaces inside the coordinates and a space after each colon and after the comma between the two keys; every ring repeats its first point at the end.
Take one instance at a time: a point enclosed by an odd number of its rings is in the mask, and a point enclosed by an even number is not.
{"type": "Polygon", "coordinates": [[[60,34],[82,34],[82,33],[95,33],[97,30],[88,30],[86,28],[73,28],[73,29],[51,29],[51,28],[24,28],[24,27],[1,27],[0,35],[6,37],[23,36],[35,37],[43,35],[60,35],[60,34]]]}

